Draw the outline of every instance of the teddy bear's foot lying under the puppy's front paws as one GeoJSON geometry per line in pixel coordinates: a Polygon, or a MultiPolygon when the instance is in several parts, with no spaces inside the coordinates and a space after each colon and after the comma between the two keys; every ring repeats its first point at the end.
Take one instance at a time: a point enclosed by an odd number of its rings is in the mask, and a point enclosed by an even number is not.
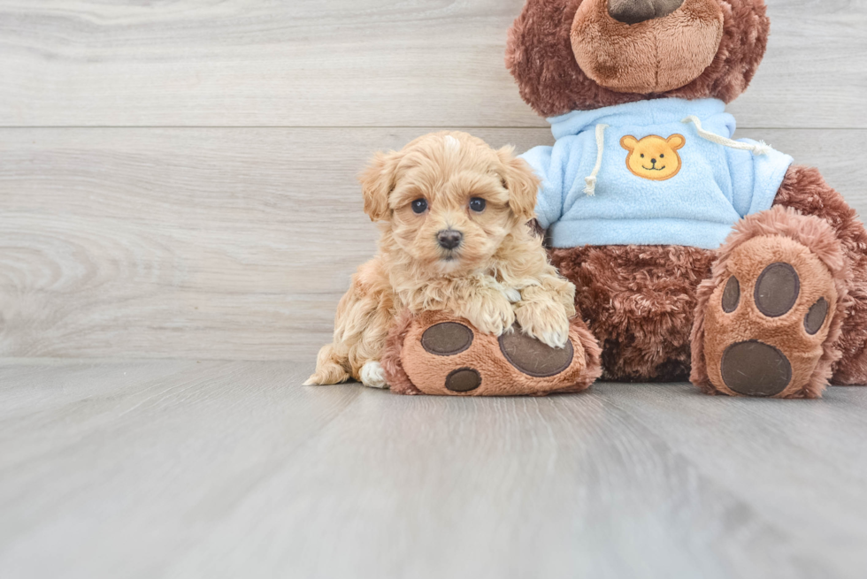
{"type": "Polygon", "coordinates": [[[382,356],[392,390],[402,394],[542,396],[587,389],[601,374],[600,348],[579,319],[564,348],[546,346],[516,324],[497,338],[441,312],[404,315],[382,356]]]}

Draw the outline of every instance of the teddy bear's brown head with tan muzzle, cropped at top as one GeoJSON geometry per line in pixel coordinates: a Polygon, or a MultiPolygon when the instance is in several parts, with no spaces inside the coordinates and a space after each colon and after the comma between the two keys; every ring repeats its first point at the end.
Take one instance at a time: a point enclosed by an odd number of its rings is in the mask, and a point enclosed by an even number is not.
{"type": "Polygon", "coordinates": [[[728,103],[769,28],[763,0],[527,0],[506,64],[546,117],[671,96],[728,103]]]}

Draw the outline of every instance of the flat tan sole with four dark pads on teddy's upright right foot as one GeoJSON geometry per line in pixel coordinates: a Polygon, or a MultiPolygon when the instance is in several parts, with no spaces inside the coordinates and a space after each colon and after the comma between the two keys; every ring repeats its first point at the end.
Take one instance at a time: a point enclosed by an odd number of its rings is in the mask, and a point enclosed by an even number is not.
{"type": "Polygon", "coordinates": [[[803,395],[823,352],[837,290],[808,248],[760,236],[735,248],[725,284],[710,297],[704,354],[720,392],[803,395]]]}

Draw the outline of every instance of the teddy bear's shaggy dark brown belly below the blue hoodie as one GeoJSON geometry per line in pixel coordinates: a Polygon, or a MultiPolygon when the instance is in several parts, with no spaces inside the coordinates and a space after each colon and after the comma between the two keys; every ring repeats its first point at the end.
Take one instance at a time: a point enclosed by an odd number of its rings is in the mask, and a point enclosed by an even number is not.
{"type": "Polygon", "coordinates": [[[602,377],[686,380],[695,290],[715,254],[682,246],[551,249],[576,286],[575,305],[602,345],[602,377]]]}

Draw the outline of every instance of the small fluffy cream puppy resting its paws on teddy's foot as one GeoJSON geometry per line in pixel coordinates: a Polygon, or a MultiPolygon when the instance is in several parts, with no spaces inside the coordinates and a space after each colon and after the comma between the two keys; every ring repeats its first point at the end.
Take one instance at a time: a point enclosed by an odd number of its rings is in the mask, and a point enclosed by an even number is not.
{"type": "Polygon", "coordinates": [[[379,253],[352,278],[334,342],[306,385],[355,378],[387,388],[380,353],[395,316],[445,310],[500,335],[564,347],[575,287],[549,264],[534,217],[539,179],[512,149],[466,133],[434,133],[380,153],[359,178],[364,212],[381,222],[379,253]]]}

